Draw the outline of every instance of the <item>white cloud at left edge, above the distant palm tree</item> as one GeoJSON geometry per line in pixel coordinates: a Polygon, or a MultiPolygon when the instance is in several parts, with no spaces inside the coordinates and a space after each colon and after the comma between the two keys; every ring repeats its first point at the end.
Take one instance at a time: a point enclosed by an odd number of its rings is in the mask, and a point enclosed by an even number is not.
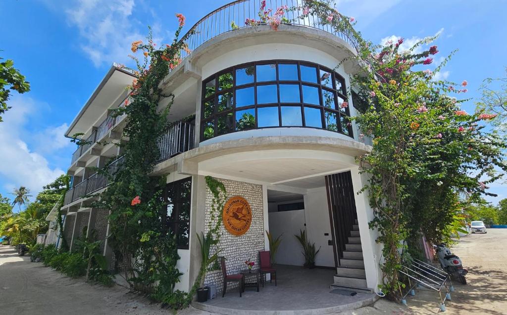
{"type": "Polygon", "coordinates": [[[61,149],[68,145],[62,132],[66,125],[48,128],[33,135],[25,126],[29,116],[37,114],[40,106],[33,99],[20,95],[15,95],[9,102],[12,109],[5,113],[4,122],[0,123],[1,179],[5,189],[11,190],[23,185],[35,196],[42,190],[42,186],[64,174],[62,169],[52,168],[43,154],[49,152],[49,149],[61,149]],[[30,142],[41,145],[38,149],[30,148],[30,142]],[[47,150],[42,149],[42,146],[47,146],[47,150]]]}

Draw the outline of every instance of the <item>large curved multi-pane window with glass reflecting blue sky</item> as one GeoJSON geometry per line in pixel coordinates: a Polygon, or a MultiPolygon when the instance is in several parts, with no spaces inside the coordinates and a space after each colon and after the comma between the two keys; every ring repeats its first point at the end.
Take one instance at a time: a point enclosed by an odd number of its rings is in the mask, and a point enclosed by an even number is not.
{"type": "Polygon", "coordinates": [[[343,77],[303,61],[238,65],[203,82],[201,141],[258,128],[308,127],[352,137],[343,77]]]}

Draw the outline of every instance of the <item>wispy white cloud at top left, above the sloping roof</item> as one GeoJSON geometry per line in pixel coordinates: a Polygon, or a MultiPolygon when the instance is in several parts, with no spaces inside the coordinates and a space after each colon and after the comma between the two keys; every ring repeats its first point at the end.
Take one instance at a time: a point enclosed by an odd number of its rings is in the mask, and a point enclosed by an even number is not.
{"type": "Polygon", "coordinates": [[[134,25],[133,8],[134,0],[77,0],[65,10],[69,23],[85,40],[81,48],[95,66],[125,63],[130,44],[144,38],[134,25]]]}

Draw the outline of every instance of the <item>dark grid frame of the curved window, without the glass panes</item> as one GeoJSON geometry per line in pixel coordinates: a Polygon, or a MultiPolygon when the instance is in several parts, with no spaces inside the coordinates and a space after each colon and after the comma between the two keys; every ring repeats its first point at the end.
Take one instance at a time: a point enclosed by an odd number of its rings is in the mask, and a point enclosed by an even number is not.
{"type": "Polygon", "coordinates": [[[242,63],[242,64],[238,64],[238,65],[235,65],[235,66],[232,66],[232,67],[229,67],[229,68],[226,68],[226,69],[223,69],[219,72],[216,72],[215,74],[213,75],[210,75],[209,77],[206,78],[206,80],[203,80],[203,83],[202,83],[202,95],[203,97],[201,98],[201,117],[200,117],[200,135],[199,135],[199,139],[200,139],[200,142],[202,141],[206,141],[206,140],[209,140],[211,138],[214,138],[214,137],[218,137],[220,135],[224,135],[224,134],[228,134],[228,133],[234,133],[234,132],[239,132],[239,131],[244,131],[244,130],[237,130],[237,126],[236,126],[236,123],[237,123],[237,117],[236,117],[236,112],[238,111],[242,111],[242,110],[246,110],[246,109],[254,109],[255,110],[255,127],[253,128],[249,128],[249,129],[246,129],[246,130],[253,130],[253,129],[264,129],[264,128],[313,128],[313,129],[320,129],[320,130],[328,130],[328,131],[332,131],[332,132],[337,132],[337,133],[340,133],[340,134],[343,134],[343,135],[346,135],[346,136],[349,136],[351,138],[353,138],[353,132],[352,132],[352,127],[351,127],[351,124],[350,124],[350,107],[347,106],[347,108],[345,109],[345,111],[342,111],[340,108],[339,108],[339,100],[338,98],[342,98],[344,101],[347,101],[348,102],[348,97],[347,97],[347,87],[345,85],[345,78],[340,75],[339,73],[337,73],[336,71],[334,71],[333,69],[329,69],[327,67],[324,67],[322,65],[319,65],[317,63],[312,63],[312,62],[308,62],[308,61],[299,61],[299,60],[283,60],[283,59],[280,59],[280,60],[262,60],[262,61],[255,61],[255,62],[247,62],[247,63],[242,63]],[[259,65],[267,65],[267,64],[274,64],[275,65],[275,72],[276,72],[276,81],[263,81],[263,82],[257,82],[257,66],[259,65]],[[279,73],[279,65],[280,64],[295,64],[297,65],[297,70],[298,70],[298,77],[297,77],[297,80],[291,80],[291,81],[288,81],[288,80],[282,80],[280,81],[279,80],[279,76],[280,76],[280,73],[279,73]],[[302,81],[301,80],[301,66],[309,66],[309,67],[315,67],[316,68],[316,77],[317,77],[317,83],[312,83],[312,82],[306,82],[306,81],[302,81]],[[242,69],[242,68],[246,68],[246,67],[252,67],[253,69],[253,73],[252,73],[252,76],[253,76],[253,82],[251,83],[247,83],[247,84],[242,84],[240,86],[236,86],[236,71],[238,69],[242,69]],[[325,86],[325,85],[322,85],[322,82],[321,82],[321,78],[320,78],[320,72],[321,71],[326,71],[326,72],[329,72],[331,73],[331,76],[333,78],[332,82],[333,82],[333,88],[329,88],[328,86],[325,86]],[[228,88],[228,89],[223,89],[223,90],[219,90],[219,77],[220,75],[223,75],[225,73],[231,73],[233,78],[232,78],[232,87],[231,88],[228,88]],[[212,95],[208,96],[208,97],[205,97],[206,96],[206,84],[209,83],[210,81],[213,81],[214,80],[214,84],[215,84],[215,91],[212,95]],[[337,89],[337,82],[340,82],[341,83],[341,88],[340,89],[337,89]],[[277,102],[276,103],[263,103],[263,104],[258,104],[258,96],[257,96],[257,88],[259,86],[266,86],[266,85],[275,85],[276,86],[276,97],[277,97],[277,102]],[[299,86],[299,97],[300,97],[300,102],[290,102],[290,103],[281,103],[280,102],[280,85],[298,85],[299,86]],[[316,105],[316,104],[309,104],[309,103],[305,103],[304,102],[304,99],[303,99],[303,85],[304,86],[310,86],[310,87],[315,87],[318,89],[318,98],[319,98],[319,105],[316,105]],[[236,106],[236,103],[237,103],[237,96],[236,96],[236,91],[237,90],[240,90],[240,89],[245,89],[245,88],[253,88],[253,104],[250,104],[250,105],[246,105],[246,106],[240,106],[240,107],[237,107],[236,106]],[[328,91],[328,92],[332,92],[333,93],[333,97],[334,97],[334,108],[329,108],[329,107],[326,107],[323,105],[323,91],[328,91]],[[224,110],[224,111],[218,111],[219,109],[219,103],[218,103],[218,99],[219,99],[219,95],[223,95],[223,94],[226,94],[226,93],[229,93],[231,92],[232,93],[232,97],[233,97],[233,104],[232,104],[232,108],[230,109],[227,109],[227,110],[224,110]],[[206,102],[208,102],[209,100],[213,100],[214,102],[214,108],[213,108],[213,112],[206,118],[204,118],[204,104],[206,102]],[[302,120],[302,126],[283,126],[282,125],[282,117],[281,117],[281,107],[282,106],[299,106],[301,108],[301,120],[302,120]],[[259,127],[258,126],[258,120],[259,120],[259,113],[258,113],[258,108],[262,108],[262,107],[272,107],[272,106],[276,106],[278,107],[278,126],[270,126],[270,127],[259,127]],[[305,107],[313,107],[313,108],[317,108],[317,109],[320,109],[320,115],[321,115],[321,122],[322,122],[322,128],[319,128],[319,127],[312,127],[312,126],[306,126],[306,121],[305,121],[305,107]],[[325,110],[328,110],[328,111],[333,111],[337,114],[337,130],[334,131],[334,130],[329,130],[326,128],[326,124],[325,124],[325,110]],[[229,113],[232,112],[232,126],[230,126],[231,128],[230,129],[226,129],[227,131],[225,133],[222,133],[222,134],[219,134],[219,126],[218,126],[218,123],[219,123],[219,117],[220,116],[225,116],[229,113]],[[346,128],[342,128],[341,126],[341,116],[347,116],[347,119],[349,120],[349,123],[347,124],[346,128]],[[209,138],[206,138],[204,136],[204,131],[205,131],[205,128],[204,126],[209,123],[209,122],[213,122],[213,135],[212,137],[209,137],[209,138]],[[347,133],[343,133],[341,132],[342,129],[345,129],[347,133]]]}

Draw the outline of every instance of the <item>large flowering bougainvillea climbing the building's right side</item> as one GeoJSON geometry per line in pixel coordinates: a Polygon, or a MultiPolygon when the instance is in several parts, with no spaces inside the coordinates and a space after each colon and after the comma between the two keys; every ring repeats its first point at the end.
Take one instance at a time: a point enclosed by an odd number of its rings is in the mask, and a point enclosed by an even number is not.
{"type": "Polygon", "coordinates": [[[456,97],[467,92],[466,81],[435,76],[450,56],[427,68],[439,53],[426,48],[436,37],[404,49],[403,38],[373,45],[329,1],[306,0],[301,9],[348,36],[357,50],[350,59],[363,67],[352,85],[366,106],[354,119],[359,138],[371,138],[373,149],[359,157],[369,178],[361,192],[368,193],[370,227],[383,244],[381,289],[396,298],[404,286],[398,270],[408,252],[417,255],[421,233],[433,243],[449,241],[462,220],[460,195],[491,194],[487,185],[500,176],[494,169],[507,170],[505,142],[484,129],[491,115],[460,108],[466,99],[456,97]]]}

